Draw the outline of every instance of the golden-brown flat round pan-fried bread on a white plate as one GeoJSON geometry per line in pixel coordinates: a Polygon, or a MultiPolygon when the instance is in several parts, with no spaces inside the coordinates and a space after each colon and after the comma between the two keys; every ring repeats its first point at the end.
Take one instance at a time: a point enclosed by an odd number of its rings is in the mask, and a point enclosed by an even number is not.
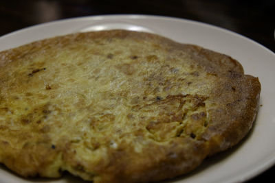
{"type": "Polygon", "coordinates": [[[261,85],[239,62],[142,32],[0,52],[0,162],[23,177],[153,182],[238,143],[261,85]]]}

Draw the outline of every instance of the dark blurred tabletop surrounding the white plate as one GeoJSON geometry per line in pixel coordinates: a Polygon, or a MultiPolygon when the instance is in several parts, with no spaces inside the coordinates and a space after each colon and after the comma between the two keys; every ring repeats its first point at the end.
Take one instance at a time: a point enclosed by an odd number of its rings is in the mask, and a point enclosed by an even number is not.
{"type": "MultiPolygon", "coordinates": [[[[38,23],[77,16],[153,14],[217,25],[274,52],[274,11],[274,0],[1,0],[0,36],[38,23]]],[[[272,173],[275,167],[248,182],[270,182],[267,178],[272,178],[272,173]]]]}

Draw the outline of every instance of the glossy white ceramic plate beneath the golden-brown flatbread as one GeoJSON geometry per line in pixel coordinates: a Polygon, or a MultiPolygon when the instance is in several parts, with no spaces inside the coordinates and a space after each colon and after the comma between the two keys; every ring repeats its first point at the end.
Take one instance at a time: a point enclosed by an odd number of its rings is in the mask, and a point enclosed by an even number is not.
{"type": "MultiPolygon", "coordinates": [[[[256,123],[239,145],[207,159],[196,171],[166,182],[242,182],[275,162],[275,54],[258,43],[219,27],[162,16],[89,16],[44,23],[0,38],[0,51],[34,40],[73,32],[102,29],[130,29],[153,32],[177,42],[186,42],[228,54],[243,65],[245,73],[259,77],[262,84],[256,123]]],[[[31,182],[45,182],[34,179],[31,182]]],[[[52,182],[81,182],[70,175],[52,182]]],[[[29,182],[0,167],[0,182],[29,182]]]]}

